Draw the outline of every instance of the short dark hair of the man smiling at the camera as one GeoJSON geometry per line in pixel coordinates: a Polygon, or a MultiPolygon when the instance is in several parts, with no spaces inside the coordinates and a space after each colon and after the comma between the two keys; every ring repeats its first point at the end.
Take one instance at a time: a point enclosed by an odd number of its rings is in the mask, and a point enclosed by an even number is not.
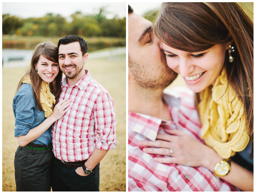
{"type": "Polygon", "coordinates": [[[69,36],[65,36],[64,38],[61,38],[58,42],[58,47],[57,47],[58,51],[59,51],[59,47],[61,44],[69,44],[72,42],[79,42],[81,51],[82,51],[82,55],[87,53],[88,46],[87,46],[86,41],[82,37],[75,36],[75,35],[69,35],[69,36]]]}

